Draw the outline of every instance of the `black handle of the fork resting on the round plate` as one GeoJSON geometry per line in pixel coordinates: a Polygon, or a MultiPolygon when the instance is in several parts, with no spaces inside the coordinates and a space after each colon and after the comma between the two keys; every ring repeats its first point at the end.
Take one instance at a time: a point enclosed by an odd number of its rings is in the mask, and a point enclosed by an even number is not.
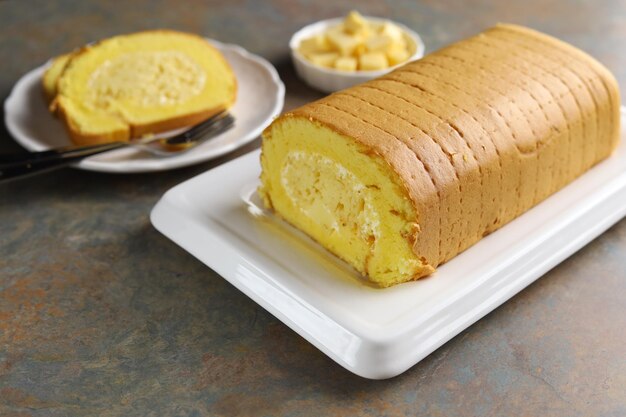
{"type": "Polygon", "coordinates": [[[0,157],[0,182],[26,177],[78,162],[88,156],[126,146],[123,142],[107,143],[63,151],[51,150],[0,157]]]}

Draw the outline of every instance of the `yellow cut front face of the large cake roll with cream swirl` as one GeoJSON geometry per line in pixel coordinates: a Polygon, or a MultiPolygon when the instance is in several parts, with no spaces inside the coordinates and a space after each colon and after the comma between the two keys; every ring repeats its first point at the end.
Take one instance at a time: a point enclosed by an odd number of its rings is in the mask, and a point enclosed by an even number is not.
{"type": "Polygon", "coordinates": [[[263,140],[259,191],[284,220],[378,286],[434,270],[413,252],[415,209],[381,156],[298,115],[283,116],[263,140]]]}

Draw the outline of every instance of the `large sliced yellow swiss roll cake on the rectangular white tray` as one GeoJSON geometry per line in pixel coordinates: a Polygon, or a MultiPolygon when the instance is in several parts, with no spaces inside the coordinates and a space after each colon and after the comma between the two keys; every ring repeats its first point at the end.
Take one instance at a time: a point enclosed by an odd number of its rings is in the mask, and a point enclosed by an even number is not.
{"type": "Polygon", "coordinates": [[[607,158],[619,107],[595,59],[501,24],[276,119],[259,193],[388,287],[433,273],[607,158]]]}

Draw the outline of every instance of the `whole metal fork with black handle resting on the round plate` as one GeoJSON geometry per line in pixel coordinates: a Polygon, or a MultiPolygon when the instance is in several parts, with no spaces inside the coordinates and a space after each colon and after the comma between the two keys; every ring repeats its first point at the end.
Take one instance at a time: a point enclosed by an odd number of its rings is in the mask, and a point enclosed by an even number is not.
{"type": "Polygon", "coordinates": [[[159,157],[178,155],[230,129],[235,118],[222,112],[170,138],[148,137],[130,142],[110,142],[91,146],[66,146],[41,152],[0,155],[0,182],[61,168],[88,156],[113,149],[135,147],[159,157]]]}

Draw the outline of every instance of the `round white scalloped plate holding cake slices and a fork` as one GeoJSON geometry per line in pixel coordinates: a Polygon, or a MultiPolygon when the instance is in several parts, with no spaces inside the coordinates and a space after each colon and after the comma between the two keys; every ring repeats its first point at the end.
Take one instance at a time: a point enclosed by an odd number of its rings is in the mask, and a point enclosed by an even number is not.
{"type": "MultiPolygon", "coordinates": [[[[233,128],[174,156],[156,157],[124,148],[86,158],[75,167],[117,173],[162,171],[217,158],[257,138],[280,114],[285,86],[267,60],[237,45],[209,41],[224,54],[237,77],[237,101],[230,110],[235,117],[233,128]]],[[[4,102],[9,133],[30,151],[71,144],[61,122],[50,114],[43,98],[41,77],[48,65],[35,68],[20,78],[4,102]]]]}

